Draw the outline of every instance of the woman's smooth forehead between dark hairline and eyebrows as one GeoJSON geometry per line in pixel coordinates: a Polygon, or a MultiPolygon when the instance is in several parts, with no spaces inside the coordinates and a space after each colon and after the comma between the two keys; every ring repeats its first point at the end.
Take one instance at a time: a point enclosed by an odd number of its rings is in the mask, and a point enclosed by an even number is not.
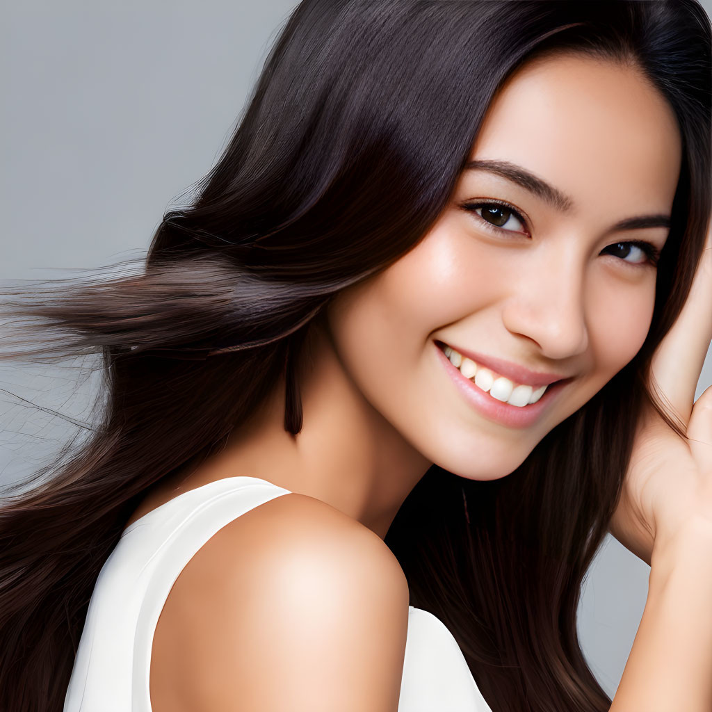
{"type": "MultiPolygon", "coordinates": [[[[538,58],[499,90],[471,158],[530,169],[572,195],[671,204],[681,136],[673,110],[641,71],[576,54],[538,58]]],[[[629,208],[630,206],[627,205],[629,208]]]]}

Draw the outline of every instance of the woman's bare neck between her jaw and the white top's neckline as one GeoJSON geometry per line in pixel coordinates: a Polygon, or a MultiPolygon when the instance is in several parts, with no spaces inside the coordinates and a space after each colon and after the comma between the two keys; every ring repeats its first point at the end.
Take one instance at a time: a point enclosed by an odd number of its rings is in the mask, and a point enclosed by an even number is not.
{"type": "Polygon", "coordinates": [[[384,538],[431,462],[365,399],[333,345],[315,330],[298,367],[303,427],[284,429],[285,383],[219,459],[232,474],[260,477],[319,499],[384,538]]]}

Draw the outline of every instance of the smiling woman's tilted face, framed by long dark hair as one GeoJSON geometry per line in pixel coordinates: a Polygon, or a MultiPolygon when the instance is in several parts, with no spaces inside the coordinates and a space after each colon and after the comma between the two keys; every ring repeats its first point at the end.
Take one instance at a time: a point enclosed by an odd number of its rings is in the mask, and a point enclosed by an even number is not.
{"type": "Polygon", "coordinates": [[[461,174],[424,239],[341,293],[328,320],[350,378],[404,439],[449,471],[491,479],[642,346],[648,251],[669,231],[681,139],[638,70],[567,55],[513,75],[471,160],[483,163],[461,174]],[[443,344],[472,358],[454,365],[443,344]],[[556,379],[538,403],[515,404],[556,379]]]}

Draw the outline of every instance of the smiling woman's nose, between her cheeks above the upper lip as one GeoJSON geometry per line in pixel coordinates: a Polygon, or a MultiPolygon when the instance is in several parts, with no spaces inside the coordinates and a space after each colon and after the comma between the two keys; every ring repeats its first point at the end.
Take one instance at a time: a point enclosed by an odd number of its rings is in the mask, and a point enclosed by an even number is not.
{"type": "Polygon", "coordinates": [[[543,255],[513,282],[502,313],[511,333],[533,340],[551,359],[587,350],[585,273],[575,249],[543,255]]]}

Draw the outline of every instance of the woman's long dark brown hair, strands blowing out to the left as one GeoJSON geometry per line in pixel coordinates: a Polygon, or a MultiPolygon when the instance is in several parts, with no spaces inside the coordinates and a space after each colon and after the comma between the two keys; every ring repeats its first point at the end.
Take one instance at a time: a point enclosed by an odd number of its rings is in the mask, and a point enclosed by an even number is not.
{"type": "Polygon", "coordinates": [[[223,448],[279,377],[298,433],[310,323],[434,224],[503,80],[542,53],[578,52],[641,68],[679,122],[649,334],[513,473],[481,482],[432,466],[386,541],[495,712],[607,710],[577,602],[639,412],[651,402],[666,417],[646,375],[710,213],[711,35],[696,0],[304,0],[140,269],[3,290],[2,357],[98,357],[104,387],[82,441],[4,492],[0,709],[61,710],[96,577],[142,494],[223,448]]]}

